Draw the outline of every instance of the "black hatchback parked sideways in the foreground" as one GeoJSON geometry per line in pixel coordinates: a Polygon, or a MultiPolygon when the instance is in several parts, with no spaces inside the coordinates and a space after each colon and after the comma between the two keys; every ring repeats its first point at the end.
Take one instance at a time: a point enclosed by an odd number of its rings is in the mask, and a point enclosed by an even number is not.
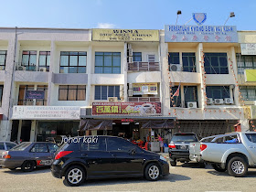
{"type": "Polygon", "coordinates": [[[162,155],[123,138],[84,136],[59,147],[51,173],[58,178],[64,176],[64,183],[74,187],[93,178],[144,176],[156,181],[169,174],[169,165],[162,155]]]}

